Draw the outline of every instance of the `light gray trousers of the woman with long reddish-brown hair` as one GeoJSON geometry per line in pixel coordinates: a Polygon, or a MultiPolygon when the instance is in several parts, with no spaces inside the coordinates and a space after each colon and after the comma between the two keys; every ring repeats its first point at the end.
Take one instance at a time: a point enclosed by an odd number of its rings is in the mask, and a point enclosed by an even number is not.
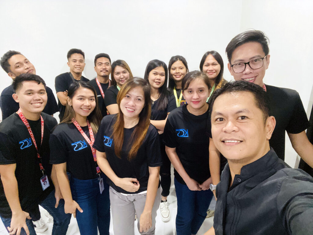
{"type": "MultiPolygon", "coordinates": [[[[153,235],[156,225],[156,211],[159,209],[161,202],[161,187],[156,192],[156,199],[154,200],[152,208],[152,226],[147,232],[141,232],[140,234],[153,235]]],[[[134,235],[134,219],[135,212],[138,219],[138,231],[140,224],[140,216],[143,212],[146,203],[145,194],[135,194],[130,196],[122,195],[110,187],[110,203],[113,221],[114,235],[134,235]]]]}

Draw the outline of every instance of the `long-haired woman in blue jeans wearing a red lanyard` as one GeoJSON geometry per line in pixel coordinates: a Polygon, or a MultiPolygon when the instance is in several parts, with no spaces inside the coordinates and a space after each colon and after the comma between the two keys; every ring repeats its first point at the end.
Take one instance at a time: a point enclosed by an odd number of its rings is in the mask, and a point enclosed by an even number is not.
{"type": "Polygon", "coordinates": [[[92,147],[100,120],[95,88],[87,82],[73,82],[69,86],[64,118],[49,140],[50,163],[57,172],[64,211],[76,217],[84,235],[96,235],[98,229],[101,235],[109,235],[109,185],[100,172],[92,147]]]}

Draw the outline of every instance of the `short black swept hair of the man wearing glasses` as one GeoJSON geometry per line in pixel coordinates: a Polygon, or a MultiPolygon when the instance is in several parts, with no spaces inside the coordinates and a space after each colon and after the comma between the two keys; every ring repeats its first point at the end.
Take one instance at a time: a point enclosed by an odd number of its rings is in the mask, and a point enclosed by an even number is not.
{"type": "Polygon", "coordinates": [[[233,51],[247,42],[258,42],[261,44],[265,55],[269,54],[269,38],[260,30],[249,30],[235,36],[227,45],[226,53],[230,63],[233,51]]]}

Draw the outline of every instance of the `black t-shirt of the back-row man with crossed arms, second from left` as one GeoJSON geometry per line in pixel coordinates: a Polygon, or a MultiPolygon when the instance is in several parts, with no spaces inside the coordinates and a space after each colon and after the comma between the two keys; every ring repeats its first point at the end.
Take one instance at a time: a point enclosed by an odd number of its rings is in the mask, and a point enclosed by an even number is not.
{"type": "MultiPolygon", "coordinates": [[[[78,82],[89,81],[89,79],[85,78],[84,76],[81,76],[80,80],[74,79],[74,81],[78,81],[78,82]]],[[[70,76],[70,72],[62,73],[56,76],[54,80],[55,91],[58,93],[60,91],[69,90],[69,85],[71,85],[72,82],[73,82],[73,79],[70,76]]],[[[59,118],[61,122],[64,116],[65,106],[61,104],[61,102],[59,101],[59,98],[58,98],[58,107],[59,107],[59,112],[60,112],[59,118]]]]}

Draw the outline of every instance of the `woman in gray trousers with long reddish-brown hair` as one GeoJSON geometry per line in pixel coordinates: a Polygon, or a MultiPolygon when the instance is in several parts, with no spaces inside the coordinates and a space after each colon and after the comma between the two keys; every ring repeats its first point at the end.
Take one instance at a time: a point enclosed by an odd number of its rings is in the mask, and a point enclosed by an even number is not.
{"type": "Polygon", "coordinates": [[[119,112],[102,119],[93,145],[110,185],[114,234],[134,234],[135,212],[139,232],[154,234],[162,159],[158,132],[150,124],[149,83],[130,79],[116,101],[119,112]]]}

